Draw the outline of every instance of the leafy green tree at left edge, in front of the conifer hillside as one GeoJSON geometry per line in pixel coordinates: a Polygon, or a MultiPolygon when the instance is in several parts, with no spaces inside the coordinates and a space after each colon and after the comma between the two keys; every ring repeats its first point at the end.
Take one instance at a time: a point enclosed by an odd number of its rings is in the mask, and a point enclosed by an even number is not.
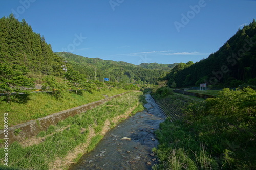
{"type": "MultiPolygon", "coordinates": [[[[7,93],[7,102],[12,100],[12,93],[23,92],[22,87],[33,87],[34,80],[28,78],[29,70],[25,66],[2,62],[0,64],[0,90],[7,93]]],[[[14,97],[15,97],[14,95],[14,97]]]]}

